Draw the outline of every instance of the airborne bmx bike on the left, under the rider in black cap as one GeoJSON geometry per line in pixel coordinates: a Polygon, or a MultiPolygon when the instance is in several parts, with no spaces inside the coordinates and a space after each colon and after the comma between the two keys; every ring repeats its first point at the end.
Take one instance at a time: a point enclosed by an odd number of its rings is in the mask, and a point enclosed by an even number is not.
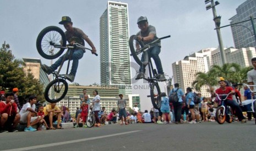
{"type": "MultiPolygon", "coordinates": [[[[69,64],[70,60],[72,60],[73,50],[83,49],[85,52],[85,49],[87,49],[91,51],[91,49],[86,48],[79,43],[67,45],[66,42],[67,39],[65,33],[62,31],[61,28],[57,26],[48,26],[46,28],[43,28],[43,30],[39,33],[36,39],[37,51],[45,59],[56,59],[63,53],[65,49],[68,49],[65,56],[63,57],[61,65],[58,68],[58,71],[52,72],[52,82],[50,82],[45,88],[44,97],[46,101],[50,103],[57,103],[61,101],[68,92],[68,83],[66,82],[67,78],[64,76],[65,74],[59,74],[61,72],[65,59],[68,58],[68,66],[66,72],[66,74],[68,74],[69,64]],[[53,93],[53,95],[50,95],[51,92],[53,93]]],[[[96,53],[94,54],[97,56],[96,53]]]]}

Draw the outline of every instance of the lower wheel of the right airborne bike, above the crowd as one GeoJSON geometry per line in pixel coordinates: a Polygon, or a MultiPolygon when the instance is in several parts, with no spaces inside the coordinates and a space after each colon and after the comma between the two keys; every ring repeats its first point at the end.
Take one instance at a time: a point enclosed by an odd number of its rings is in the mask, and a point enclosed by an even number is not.
{"type": "Polygon", "coordinates": [[[161,108],[161,91],[158,83],[152,83],[150,85],[151,102],[156,109],[161,108]]]}

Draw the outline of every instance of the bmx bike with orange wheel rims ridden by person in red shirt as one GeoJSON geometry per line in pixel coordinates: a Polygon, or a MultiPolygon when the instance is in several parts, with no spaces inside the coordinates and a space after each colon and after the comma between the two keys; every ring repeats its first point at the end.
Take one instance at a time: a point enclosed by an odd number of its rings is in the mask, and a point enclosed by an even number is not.
{"type": "Polygon", "coordinates": [[[227,106],[225,103],[225,100],[227,100],[228,95],[231,95],[232,93],[229,92],[228,94],[216,94],[216,97],[221,101],[221,106],[217,107],[216,113],[215,113],[215,120],[219,124],[224,124],[225,121],[227,123],[232,123],[233,120],[233,112],[232,108],[230,106],[227,106]]]}

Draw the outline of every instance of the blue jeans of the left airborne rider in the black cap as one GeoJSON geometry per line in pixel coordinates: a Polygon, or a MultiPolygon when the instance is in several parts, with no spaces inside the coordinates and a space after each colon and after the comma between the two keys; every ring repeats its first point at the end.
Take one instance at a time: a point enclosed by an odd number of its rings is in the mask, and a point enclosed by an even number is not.
{"type": "MultiPolygon", "coordinates": [[[[70,51],[69,51],[69,53],[70,53],[70,51]]],[[[73,55],[72,55],[73,62],[72,62],[70,74],[75,75],[77,73],[78,62],[79,62],[78,60],[81,59],[83,57],[83,55],[84,55],[84,51],[82,49],[73,50],[73,55]]],[[[53,71],[55,71],[61,65],[61,62],[64,59],[64,56],[65,55],[62,55],[61,57],[59,57],[59,59],[55,63],[53,63],[53,65],[51,66],[53,71]]],[[[68,60],[68,56],[65,57],[64,61],[67,61],[67,60],[68,60]]]]}

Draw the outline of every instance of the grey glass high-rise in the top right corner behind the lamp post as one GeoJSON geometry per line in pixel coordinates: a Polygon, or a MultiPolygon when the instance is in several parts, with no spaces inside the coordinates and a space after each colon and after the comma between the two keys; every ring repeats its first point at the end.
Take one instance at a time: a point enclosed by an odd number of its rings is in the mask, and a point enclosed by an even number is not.
{"type": "MultiPolygon", "coordinates": [[[[237,14],[230,19],[230,24],[235,24],[237,22],[249,20],[250,16],[256,18],[256,1],[247,0],[246,2],[238,6],[236,12],[237,14]]],[[[253,22],[254,26],[256,26],[255,20],[253,22]]],[[[256,39],[253,35],[253,26],[251,21],[246,21],[237,25],[233,25],[231,26],[231,30],[233,34],[235,47],[237,49],[256,47],[256,39]]]]}

